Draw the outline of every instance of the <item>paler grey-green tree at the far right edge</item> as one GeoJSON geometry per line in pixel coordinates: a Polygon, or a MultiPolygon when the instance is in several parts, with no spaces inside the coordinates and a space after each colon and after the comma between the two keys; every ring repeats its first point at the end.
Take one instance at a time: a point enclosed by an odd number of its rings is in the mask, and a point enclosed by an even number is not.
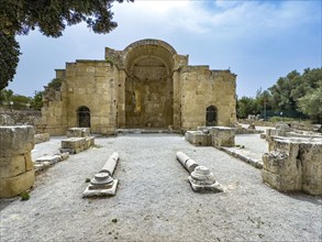
{"type": "Polygon", "coordinates": [[[304,114],[322,123],[322,80],[317,88],[311,88],[304,97],[300,98],[298,105],[304,114]]]}

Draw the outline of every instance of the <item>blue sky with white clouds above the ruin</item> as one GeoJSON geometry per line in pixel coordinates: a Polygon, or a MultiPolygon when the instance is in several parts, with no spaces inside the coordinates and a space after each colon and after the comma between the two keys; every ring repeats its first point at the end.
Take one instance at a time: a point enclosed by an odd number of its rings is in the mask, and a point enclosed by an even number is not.
{"type": "Polygon", "coordinates": [[[321,67],[320,0],[136,0],[114,3],[119,26],[95,34],[85,24],[67,28],[60,38],[37,31],[19,36],[18,72],[9,88],[33,96],[75,59],[103,59],[104,47],[124,50],[143,38],[160,38],[190,65],[209,65],[237,75],[237,95],[254,97],[289,72],[321,67]]]}

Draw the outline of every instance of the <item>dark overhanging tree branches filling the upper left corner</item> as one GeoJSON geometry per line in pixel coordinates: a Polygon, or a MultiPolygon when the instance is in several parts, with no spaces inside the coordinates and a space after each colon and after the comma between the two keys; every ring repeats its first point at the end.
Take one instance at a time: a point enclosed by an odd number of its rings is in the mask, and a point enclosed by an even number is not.
{"type": "MultiPolygon", "coordinates": [[[[124,0],[0,0],[0,89],[8,86],[19,62],[16,34],[27,34],[36,28],[46,36],[59,37],[67,25],[86,22],[95,33],[109,33],[118,26],[112,21],[113,2],[124,0]],[[11,54],[11,55],[10,55],[11,54]]],[[[127,0],[133,1],[133,0],[127,0]]]]}

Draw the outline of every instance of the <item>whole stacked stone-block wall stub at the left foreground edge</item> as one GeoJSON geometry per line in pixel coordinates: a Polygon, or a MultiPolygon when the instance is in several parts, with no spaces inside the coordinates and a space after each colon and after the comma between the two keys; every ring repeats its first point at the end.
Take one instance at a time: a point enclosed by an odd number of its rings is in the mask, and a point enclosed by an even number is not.
{"type": "Polygon", "coordinates": [[[34,185],[33,147],[33,127],[0,127],[0,198],[14,197],[34,185]]]}

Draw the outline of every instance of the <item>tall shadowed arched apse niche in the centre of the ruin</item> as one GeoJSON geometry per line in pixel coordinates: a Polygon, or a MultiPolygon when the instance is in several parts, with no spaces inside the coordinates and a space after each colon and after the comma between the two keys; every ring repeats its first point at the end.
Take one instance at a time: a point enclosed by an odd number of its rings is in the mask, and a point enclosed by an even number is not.
{"type": "Polygon", "coordinates": [[[143,40],[124,50],[125,127],[173,125],[173,69],[176,51],[158,40],[143,40]]]}

